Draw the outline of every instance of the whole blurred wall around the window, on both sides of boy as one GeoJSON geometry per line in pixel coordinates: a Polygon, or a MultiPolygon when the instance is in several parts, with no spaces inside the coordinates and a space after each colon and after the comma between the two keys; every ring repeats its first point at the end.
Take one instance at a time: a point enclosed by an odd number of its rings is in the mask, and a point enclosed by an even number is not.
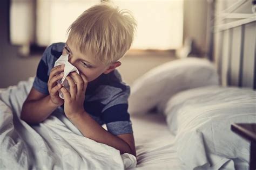
{"type": "MultiPolygon", "coordinates": [[[[21,80],[35,76],[40,56],[21,58],[18,48],[9,44],[8,0],[0,2],[0,88],[16,85],[21,80]]],[[[205,0],[184,0],[184,37],[192,37],[202,51],[206,50],[206,8],[205,0]]],[[[17,28],[18,29],[18,28],[17,28]]],[[[126,56],[119,70],[123,79],[131,84],[147,70],[172,60],[169,56],[150,57],[126,56]],[[132,68],[132,69],[131,69],[132,68]]]]}

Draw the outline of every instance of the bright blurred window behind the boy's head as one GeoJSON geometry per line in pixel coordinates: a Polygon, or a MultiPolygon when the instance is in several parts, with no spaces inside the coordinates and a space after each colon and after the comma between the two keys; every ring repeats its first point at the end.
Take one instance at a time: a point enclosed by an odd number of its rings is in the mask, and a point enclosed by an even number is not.
{"type": "MultiPolygon", "coordinates": [[[[12,0],[10,40],[29,54],[31,45],[46,47],[66,41],[66,30],[100,0],[12,0]]],[[[138,22],[133,49],[177,49],[183,41],[183,0],[113,0],[138,22]]]]}

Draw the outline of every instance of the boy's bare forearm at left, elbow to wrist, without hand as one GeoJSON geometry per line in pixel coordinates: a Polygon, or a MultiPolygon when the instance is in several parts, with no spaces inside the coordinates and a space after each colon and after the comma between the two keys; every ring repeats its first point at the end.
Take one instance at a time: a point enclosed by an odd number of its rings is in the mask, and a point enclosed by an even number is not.
{"type": "Polygon", "coordinates": [[[50,95],[40,93],[32,87],[21,111],[21,119],[29,124],[44,121],[58,105],[53,103],[50,95]]]}

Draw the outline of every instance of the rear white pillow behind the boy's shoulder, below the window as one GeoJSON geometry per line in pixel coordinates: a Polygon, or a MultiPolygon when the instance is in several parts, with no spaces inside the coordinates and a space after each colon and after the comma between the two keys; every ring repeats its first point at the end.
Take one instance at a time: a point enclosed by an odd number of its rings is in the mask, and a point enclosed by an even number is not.
{"type": "Polygon", "coordinates": [[[167,100],[179,91],[219,84],[214,65],[200,58],[170,61],[151,69],[131,86],[129,112],[147,112],[157,107],[163,112],[167,100]]]}

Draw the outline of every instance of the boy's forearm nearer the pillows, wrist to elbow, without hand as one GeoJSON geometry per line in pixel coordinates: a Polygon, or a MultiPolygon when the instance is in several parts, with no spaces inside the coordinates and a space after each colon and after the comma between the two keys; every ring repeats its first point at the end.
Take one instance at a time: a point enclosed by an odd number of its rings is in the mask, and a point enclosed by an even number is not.
{"type": "Polygon", "coordinates": [[[130,153],[136,157],[134,138],[132,133],[119,134],[114,136],[100,126],[91,116],[84,111],[76,117],[70,118],[70,121],[83,133],[87,138],[112,146],[123,153],[130,153]]]}

